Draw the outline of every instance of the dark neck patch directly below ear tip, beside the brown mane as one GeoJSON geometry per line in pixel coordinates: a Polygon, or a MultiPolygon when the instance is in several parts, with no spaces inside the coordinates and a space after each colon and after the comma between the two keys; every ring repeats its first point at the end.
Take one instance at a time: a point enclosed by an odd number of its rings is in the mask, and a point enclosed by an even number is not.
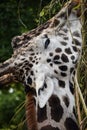
{"type": "Polygon", "coordinates": [[[37,109],[37,121],[39,123],[43,122],[44,120],[47,119],[47,111],[46,111],[46,105],[43,108],[40,108],[38,105],[37,109]]]}

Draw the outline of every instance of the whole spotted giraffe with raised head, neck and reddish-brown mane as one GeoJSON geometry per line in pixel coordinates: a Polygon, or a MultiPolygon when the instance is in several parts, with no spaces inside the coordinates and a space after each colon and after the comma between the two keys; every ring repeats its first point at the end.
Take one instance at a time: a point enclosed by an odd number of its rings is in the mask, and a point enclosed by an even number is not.
{"type": "Polygon", "coordinates": [[[21,82],[27,95],[29,130],[79,130],[74,76],[81,55],[78,0],[71,0],[43,25],[12,40],[14,53],[0,76],[21,82]]]}

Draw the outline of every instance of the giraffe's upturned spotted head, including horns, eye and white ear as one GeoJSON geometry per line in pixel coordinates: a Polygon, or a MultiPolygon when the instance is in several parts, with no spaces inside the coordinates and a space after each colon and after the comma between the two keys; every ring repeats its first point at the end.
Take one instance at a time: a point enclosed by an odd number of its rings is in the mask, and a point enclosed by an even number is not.
{"type": "Polygon", "coordinates": [[[13,38],[14,54],[0,65],[0,76],[10,74],[22,82],[26,92],[33,91],[38,96],[41,108],[58,80],[69,78],[75,69],[81,47],[81,24],[74,9],[77,4],[78,1],[70,1],[45,24],[13,38]]]}

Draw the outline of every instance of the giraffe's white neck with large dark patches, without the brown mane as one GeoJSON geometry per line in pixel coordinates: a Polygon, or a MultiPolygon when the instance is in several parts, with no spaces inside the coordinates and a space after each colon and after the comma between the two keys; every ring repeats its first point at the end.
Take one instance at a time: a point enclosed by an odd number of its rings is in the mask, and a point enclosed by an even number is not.
{"type": "Polygon", "coordinates": [[[37,106],[39,130],[79,130],[73,94],[73,84],[66,81],[65,88],[55,87],[44,108],[37,106]]]}

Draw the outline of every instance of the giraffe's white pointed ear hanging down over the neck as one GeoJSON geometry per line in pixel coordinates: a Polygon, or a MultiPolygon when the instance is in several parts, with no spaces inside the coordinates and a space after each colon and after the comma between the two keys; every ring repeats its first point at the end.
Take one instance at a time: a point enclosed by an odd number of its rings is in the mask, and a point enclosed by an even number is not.
{"type": "Polygon", "coordinates": [[[38,93],[38,103],[40,108],[43,108],[49,98],[51,97],[54,90],[54,83],[50,77],[47,77],[42,88],[39,89],[38,93]]]}

